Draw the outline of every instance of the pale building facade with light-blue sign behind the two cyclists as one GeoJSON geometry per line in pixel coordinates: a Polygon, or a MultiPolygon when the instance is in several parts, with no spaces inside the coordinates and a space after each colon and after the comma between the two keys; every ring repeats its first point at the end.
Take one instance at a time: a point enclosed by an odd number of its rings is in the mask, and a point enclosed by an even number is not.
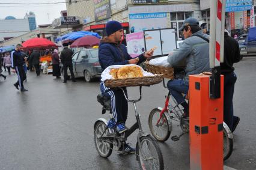
{"type": "MultiPolygon", "coordinates": [[[[127,23],[124,33],[145,29],[180,28],[187,17],[201,20],[199,0],[66,0],[67,15],[79,16],[84,21],[81,30],[104,35],[104,24],[109,20],[127,23]],[[86,9],[86,10],[85,10],[86,9]]],[[[181,35],[177,34],[177,38],[181,35]]]]}

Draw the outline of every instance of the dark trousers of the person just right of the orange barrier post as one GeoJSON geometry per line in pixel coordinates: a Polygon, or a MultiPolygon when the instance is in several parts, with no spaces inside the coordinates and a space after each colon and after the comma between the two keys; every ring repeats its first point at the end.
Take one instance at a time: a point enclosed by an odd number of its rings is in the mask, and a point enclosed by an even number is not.
{"type": "Polygon", "coordinates": [[[234,85],[236,83],[236,73],[224,74],[224,122],[233,130],[233,124],[237,121],[237,117],[234,116],[233,108],[233,96],[234,85]]]}

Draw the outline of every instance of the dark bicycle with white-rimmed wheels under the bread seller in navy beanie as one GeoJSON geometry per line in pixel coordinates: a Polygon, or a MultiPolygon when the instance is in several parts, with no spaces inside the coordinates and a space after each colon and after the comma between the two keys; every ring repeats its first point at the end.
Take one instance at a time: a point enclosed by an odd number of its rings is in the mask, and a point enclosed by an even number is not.
{"type": "Polygon", "coordinates": [[[98,102],[103,105],[102,114],[105,114],[106,110],[109,111],[110,120],[107,121],[104,118],[99,118],[96,123],[94,123],[94,144],[102,157],[109,157],[112,154],[112,150],[121,151],[121,153],[124,154],[126,139],[135,132],[136,129],[139,129],[135,151],[139,167],[141,169],[163,169],[163,156],[157,141],[149,134],[142,131],[139,113],[136,108],[136,102],[139,102],[142,98],[141,88],[142,87],[139,87],[139,99],[135,100],[129,100],[123,88],[111,88],[105,91],[105,93],[107,93],[113,89],[122,90],[127,102],[133,103],[136,123],[121,134],[118,133],[116,129],[116,123],[111,113],[110,99],[103,96],[97,97],[98,102]]]}

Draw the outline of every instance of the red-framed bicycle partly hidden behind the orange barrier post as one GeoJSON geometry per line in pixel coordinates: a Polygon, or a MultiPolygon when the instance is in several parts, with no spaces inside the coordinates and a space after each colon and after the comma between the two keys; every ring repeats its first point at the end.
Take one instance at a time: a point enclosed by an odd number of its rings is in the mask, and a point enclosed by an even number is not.
{"type": "MultiPolygon", "coordinates": [[[[165,80],[163,79],[163,87],[167,88],[165,85],[165,80]]],[[[168,89],[168,88],[167,88],[168,89]]],[[[184,95],[185,96],[185,95],[184,95]]],[[[168,96],[165,96],[165,106],[164,108],[154,108],[148,117],[148,125],[150,127],[150,132],[154,138],[159,142],[165,142],[169,139],[172,130],[172,120],[180,123],[182,130],[181,135],[172,136],[172,141],[178,141],[182,135],[189,133],[189,120],[183,118],[183,109],[180,107],[180,103],[177,103],[174,97],[168,90],[168,96]],[[172,99],[174,105],[169,102],[172,99]]],[[[224,160],[228,159],[233,152],[233,133],[225,124],[223,123],[224,132],[224,160]]]]}

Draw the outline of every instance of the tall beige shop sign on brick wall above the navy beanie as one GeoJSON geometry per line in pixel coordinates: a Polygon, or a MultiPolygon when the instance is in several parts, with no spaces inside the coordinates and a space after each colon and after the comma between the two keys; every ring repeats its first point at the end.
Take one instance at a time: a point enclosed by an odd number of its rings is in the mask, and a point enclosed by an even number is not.
{"type": "Polygon", "coordinates": [[[109,0],[94,0],[94,17],[96,22],[111,17],[111,5],[109,0]]]}

